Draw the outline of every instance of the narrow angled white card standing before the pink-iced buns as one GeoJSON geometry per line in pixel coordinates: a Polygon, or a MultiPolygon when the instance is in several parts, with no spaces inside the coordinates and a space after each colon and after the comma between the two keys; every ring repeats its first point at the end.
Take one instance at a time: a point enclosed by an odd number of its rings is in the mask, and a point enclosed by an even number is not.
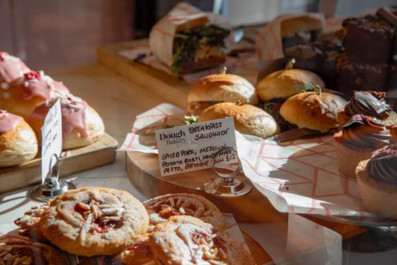
{"type": "Polygon", "coordinates": [[[56,154],[58,157],[62,152],[62,114],[61,101],[59,99],[48,110],[45,115],[43,127],[41,127],[41,184],[54,166],[55,160],[51,157],[56,154]],[[51,163],[51,165],[50,165],[51,163]]]}

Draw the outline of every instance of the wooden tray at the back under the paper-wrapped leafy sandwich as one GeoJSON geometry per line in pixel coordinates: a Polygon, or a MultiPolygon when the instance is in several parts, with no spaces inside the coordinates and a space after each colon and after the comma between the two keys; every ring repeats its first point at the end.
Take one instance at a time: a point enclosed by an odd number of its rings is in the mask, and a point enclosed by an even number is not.
{"type": "Polygon", "coordinates": [[[148,46],[147,39],[103,46],[96,50],[96,58],[103,66],[107,66],[119,75],[130,79],[134,84],[151,90],[176,106],[185,108],[190,84],[174,75],[168,75],[166,72],[141,63],[135,63],[119,55],[122,50],[131,50],[143,46],[148,46]]]}

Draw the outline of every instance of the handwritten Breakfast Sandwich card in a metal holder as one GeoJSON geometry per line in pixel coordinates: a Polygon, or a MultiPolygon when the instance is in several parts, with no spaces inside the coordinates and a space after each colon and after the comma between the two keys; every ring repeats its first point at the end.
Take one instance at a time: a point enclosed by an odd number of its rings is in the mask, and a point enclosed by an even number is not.
{"type": "MultiPolygon", "coordinates": [[[[236,148],[233,118],[216,119],[187,126],[156,130],[161,176],[210,168],[214,154],[225,147],[236,148]]],[[[217,164],[234,162],[227,150],[217,164]]]]}

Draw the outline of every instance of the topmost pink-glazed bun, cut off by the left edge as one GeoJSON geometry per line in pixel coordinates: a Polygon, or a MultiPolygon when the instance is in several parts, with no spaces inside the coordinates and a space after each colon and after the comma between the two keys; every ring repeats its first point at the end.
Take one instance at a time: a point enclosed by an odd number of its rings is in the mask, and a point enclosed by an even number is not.
{"type": "MultiPolygon", "coordinates": [[[[0,92],[5,92],[7,84],[15,79],[23,77],[23,74],[29,72],[28,66],[18,57],[9,55],[7,52],[0,51],[0,92]],[[3,84],[5,83],[5,84],[3,84]],[[3,90],[2,90],[3,89],[3,90]]],[[[1,95],[0,95],[1,98],[1,95]]]]}

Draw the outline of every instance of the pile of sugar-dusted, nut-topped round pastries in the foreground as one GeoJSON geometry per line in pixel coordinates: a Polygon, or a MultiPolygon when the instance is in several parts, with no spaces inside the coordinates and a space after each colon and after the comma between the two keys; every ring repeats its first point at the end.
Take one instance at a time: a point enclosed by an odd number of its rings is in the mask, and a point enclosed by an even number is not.
{"type": "Polygon", "coordinates": [[[28,210],[15,224],[30,238],[26,246],[43,248],[37,254],[69,253],[79,264],[255,264],[225,233],[219,209],[199,195],[141,204],[124,190],[79,188],[28,210]]]}

